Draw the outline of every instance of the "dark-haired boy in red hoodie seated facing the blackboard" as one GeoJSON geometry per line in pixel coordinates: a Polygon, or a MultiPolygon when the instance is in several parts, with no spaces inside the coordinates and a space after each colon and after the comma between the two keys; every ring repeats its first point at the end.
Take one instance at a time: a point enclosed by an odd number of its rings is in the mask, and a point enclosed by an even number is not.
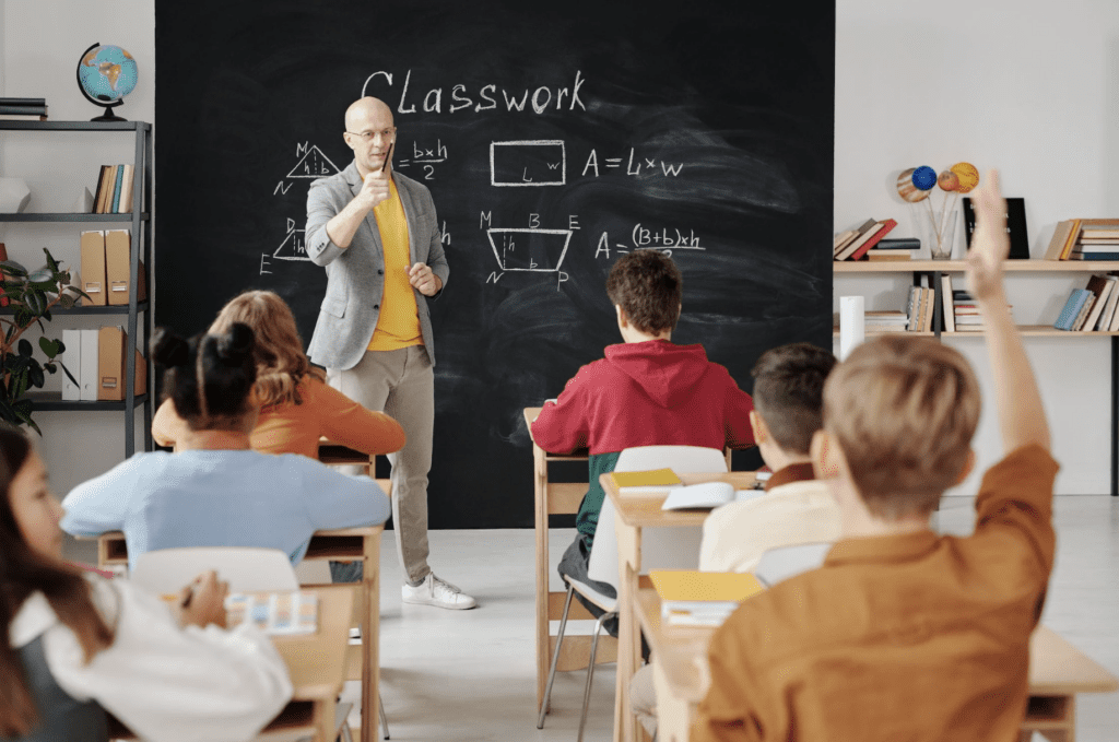
{"type": "MultiPolygon", "coordinates": [[[[560,573],[606,594],[613,588],[590,580],[586,566],[604,497],[599,475],[613,471],[618,454],[637,445],[754,444],[750,395],[726,368],[707,360],[703,346],[671,342],[683,284],[679,269],[658,251],[619,257],[606,279],[606,294],[624,342],[606,346],[605,358],[583,366],[533,422],[533,440],[545,451],[590,449],[590,488],[560,573]]],[[[579,599],[592,613],[602,613],[579,599]]]]}

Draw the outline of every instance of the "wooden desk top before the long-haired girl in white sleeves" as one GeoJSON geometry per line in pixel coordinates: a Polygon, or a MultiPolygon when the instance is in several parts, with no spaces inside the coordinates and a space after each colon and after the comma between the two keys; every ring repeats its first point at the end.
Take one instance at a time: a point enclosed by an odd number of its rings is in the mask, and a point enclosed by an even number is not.
{"type": "Polygon", "coordinates": [[[346,651],[354,613],[354,585],[301,588],[319,597],[319,630],[300,637],[273,637],[288,665],[292,701],[330,698],[346,679],[346,651]]]}

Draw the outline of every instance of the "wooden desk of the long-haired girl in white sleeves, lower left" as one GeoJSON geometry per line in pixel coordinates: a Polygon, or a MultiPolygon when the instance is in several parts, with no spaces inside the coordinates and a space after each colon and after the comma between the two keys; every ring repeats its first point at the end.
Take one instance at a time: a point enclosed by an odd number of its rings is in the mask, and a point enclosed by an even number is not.
{"type": "MultiPolygon", "coordinates": [[[[319,598],[319,628],[307,636],[272,638],[288,666],[292,696],[283,711],[254,738],[256,740],[313,735],[314,742],[332,742],[342,722],[339,712],[349,708],[349,704],[341,704],[339,708],[338,694],[346,679],[354,588],[322,585],[309,592],[319,598]]],[[[110,739],[135,736],[110,717],[110,739]]]]}

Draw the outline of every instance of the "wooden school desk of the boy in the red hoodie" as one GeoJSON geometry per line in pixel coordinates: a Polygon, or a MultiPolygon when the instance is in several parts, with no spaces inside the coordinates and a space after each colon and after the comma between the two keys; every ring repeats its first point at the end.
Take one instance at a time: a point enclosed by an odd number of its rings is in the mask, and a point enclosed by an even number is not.
{"type": "MultiPolygon", "coordinates": [[[[540,407],[525,407],[525,424],[532,435],[533,421],[540,414],[540,407]]],[[[548,579],[548,516],[574,515],[586,494],[586,453],[558,454],[548,453],[533,441],[533,492],[536,513],[536,707],[539,708],[544,698],[544,686],[548,679],[548,668],[552,666],[552,654],[555,651],[556,635],[551,631],[551,621],[558,621],[563,616],[563,604],[566,593],[551,592],[548,579]],[[582,461],[582,481],[553,482],[548,481],[548,464],[561,461],[582,461]]],[[[579,601],[572,601],[568,620],[589,619],[594,617],[579,601]]],[[[617,658],[617,642],[613,637],[603,636],[599,641],[596,664],[612,663],[617,658]]],[[[566,636],[563,650],[556,665],[557,671],[576,670],[586,667],[591,658],[591,637],[566,636]]]]}

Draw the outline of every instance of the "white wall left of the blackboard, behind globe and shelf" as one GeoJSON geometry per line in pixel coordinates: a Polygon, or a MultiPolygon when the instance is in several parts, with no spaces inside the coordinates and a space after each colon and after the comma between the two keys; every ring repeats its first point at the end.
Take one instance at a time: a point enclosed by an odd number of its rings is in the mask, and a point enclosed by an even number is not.
{"type": "MultiPolygon", "coordinates": [[[[151,0],[0,0],[0,95],[45,97],[56,121],[100,115],[102,109],[85,100],[75,78],[82,53],[94,43],[123,47],[135,57],[139,83],[116,112],[129,120],[152,121],[156,10],[151,0]]],[[[95,190],[100,166],[131,162],[133,147],[132,135],[124,132],[4,132],[0,173],[27,181],[29,212],[68,212],[83,187],[95,190]]],[[[0,224],[0,242],[12,260],[29,266],[44,264],[44,247],[77,266],[83,228],[91,225],[0,224]]],[[[124,318],[115,321],[123,323],[124,318]]],[[[56,320],[49,329],[51,337],[62,337],[62,327],[101,323],[92,317],[69,318],[56,320]]],[[[48,388],[57,387],[57,378],[48,378],[48,388]]],[[[35,420],[43,429],[40,451],[59,495],[124,458],[124,413],[40,412],[35,420]]]]}

